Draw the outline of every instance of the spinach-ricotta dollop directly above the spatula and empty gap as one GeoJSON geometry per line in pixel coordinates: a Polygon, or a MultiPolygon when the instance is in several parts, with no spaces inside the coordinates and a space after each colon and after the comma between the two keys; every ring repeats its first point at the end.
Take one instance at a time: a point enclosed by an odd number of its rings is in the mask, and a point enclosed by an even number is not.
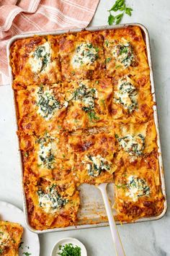
{"type": "Polygon", "coordinates": [[[102,158],[101,155],[91,156],[88,155],[85,157],[86,169],[89,176],[97,177],[101,174],[102,171],[109,171],[111,163],[105,158],[102,158]]]}

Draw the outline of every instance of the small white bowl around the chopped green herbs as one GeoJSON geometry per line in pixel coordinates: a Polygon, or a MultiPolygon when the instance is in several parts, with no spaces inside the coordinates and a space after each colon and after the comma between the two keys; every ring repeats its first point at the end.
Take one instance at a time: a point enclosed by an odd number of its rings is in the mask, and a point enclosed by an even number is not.
{"type": "Polygon", "coordinates": [[[86,247],[84,246],[84,244],[82,244],[78,239],[72,238],[72,237],[67,237],[67,238],[58,240],[58,242],[53,247],[51,256],[58,256],[58,252],[60,252],[59,245],[66,245],[66,244],[73,244],[73,246],[76,246],[76,245],[79,246],[81,248],[81,256],[87,256],[86,247]]]}

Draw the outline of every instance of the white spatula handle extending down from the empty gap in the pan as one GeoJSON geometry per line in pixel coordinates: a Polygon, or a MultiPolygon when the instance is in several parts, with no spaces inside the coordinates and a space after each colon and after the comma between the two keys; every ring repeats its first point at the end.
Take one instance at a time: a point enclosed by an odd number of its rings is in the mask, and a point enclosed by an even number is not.
{"type": "Polygon", "coordinates": [[[107,217],[108,217],[108,220],[109,220],[109,227],[110,227],[110,230],[111,230],[111,233],[112,233],[112,239],[113,239],[113,242],[115,244],[116,255],[117,256],[125,256],[125,252],[124,252],[124,249],[122,247],[122,242],[120,240],[120,235],[117,231],[117,226],[116,226],[116,223],[115,223],[115,219],[113,217],[112,208],[109,204],[109,198],[107,196],[107,191],[106,191],[107,183],[100,184],[98,187],[99,187],[100,191],[102,192],[102,197],[103,197],[103,200],[104,200],[104,205],[105,205],[105,209],[106,209],[106,212],[107,212],[107,217]]]}

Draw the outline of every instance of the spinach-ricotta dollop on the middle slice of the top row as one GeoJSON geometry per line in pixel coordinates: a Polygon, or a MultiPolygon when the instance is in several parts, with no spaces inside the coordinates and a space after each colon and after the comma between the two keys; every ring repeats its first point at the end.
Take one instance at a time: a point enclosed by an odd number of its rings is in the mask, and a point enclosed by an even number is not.
{"type": "Polygon", "coordinates": [[[91,43],[81,43],[75,51],[71,63],[73,68],[78,69],[82,65],[90,65],[98,58],[98,48],[91,43]]]}

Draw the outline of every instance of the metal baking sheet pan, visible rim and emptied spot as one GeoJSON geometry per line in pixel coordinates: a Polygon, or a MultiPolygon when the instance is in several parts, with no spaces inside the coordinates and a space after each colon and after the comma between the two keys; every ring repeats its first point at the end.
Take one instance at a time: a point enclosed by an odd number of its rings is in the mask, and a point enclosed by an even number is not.
{"type": "MultiPolygon", "coordinates": [[[[149,35],[148,30],[146,27],[139,23],[128,23],[124,25],[112,25],[112,26],[99,26],[99,27],[87,27],[86,30],[89,31],[98,31],[98,30],[110,30],[115,28],[122,28],[122,27],[128,27],[128,26],[138,26],[143,31],[143,37],[146,41],[146,53],[148,56],[148,64],[150,67],[150,79],[151,79],[151,93],[153,94],[153,101],[156,102],[156,95],[155,95],[155,87],[153,82],[153,69],[152,69],[152,62],[151,62],[151,48],[150,48],[150,41],[149,41],[149,35]]],[[[63,33],[77,33],[80,32],[81,29],[75,29],[75,30],[58,30],[58,31],[52,31],[52,32],[45,32],[45,33],[30,33],[30,34],[24,34],[24,35],[16,35],[11,40],[9,40],[9,43],[7,45],[6,51],[8,56],[8,64],[10,63],[10,46],[14,42],[14,40],[20,39],[20,38],[30,38],[33,35],[61,35],[63,33]]],[[[14,123],[15,123],[15,129],[16,132],[18,130],[17,127],[17,115],[16,115],[16,106],[15,106],[15,98],[14,98],[14,90],[12,90],[12,68],[9,64],[9,75],[10,75],[10,81],[11,81],[11,93],[12,93],[12,106],[14,111],[14,123]]],[[[161,156],[161,142],[160,142],[160,135],[159,135],[159,129],[158,129],[158,114],[157,114],[157,108],[156,105],[153,106],[153,119],[156,124],[156,132],[157,132],[157,144],[158,144],[158,162],[159,162],[159,170],[160,170],[160,176],[161,176],[161,189],[162,193],[165,197],[164,202],[164,210],[159,216],[153,216],[148,218],[139,218],[138,220],[134,222],[142,222],[142,221],[153,221],[158,220],[159,218],[162,218],[167,209],[167,200],[166,200],[166,188],[165,188],[165,181],[164,181],[164,168],[162,163],[162,156],[161,156]]],[[[87,228],[94,228],[94,227],[101,227],[101,226],[108,226],[109,223],[107,221],[106,212],[104,209],[104,203],[102,200],[102,195],[99,189],[93,185],[89,184],[82,184],[79,187],[80,197],[81,197],[81,209],[79,210],[78,218],[79,221],[76,226],[68,226],[65,228],[56,228],[56,229],[47,229],[47,230],[36,230],[33,229],[30,226],[30,223],[28,221],[28,215],[27,215],[27,202],[24,195],[24,187],[23,187],[23,175],[22,175],[22,154],[19,151],[19,139],[17,137],[17,133],[15,136],[15,144],[16,144],[16,150],[18,152],[18,162],[19,162],[19,170],[20,170],[20,176],[21,176],[21,182],[22,182],[22,197],[23,197],[23,208],[24,208],[24,218],[25,223],[27,225],[27,228],[30,229],[30,231],[33,231],[37,234],[42,234],[46,232],[52,232],[52,231],[66,231],[66,230],[75,230],[75,229],[87,229],[87,228]]],[[[107,193],[109,196],[109,199],[111,200],[112,204],[114,202],[114,186],[113,184],[109,184],[107,186],[107,193]]],[[[115,210],[113,209],[113,214],[115,214],[115,210]]],[[[126,223],[126,222],[123,222],[126,223]]],[[[119,221],[117,221],[117,224],[120,224],[119,221]]]]}

